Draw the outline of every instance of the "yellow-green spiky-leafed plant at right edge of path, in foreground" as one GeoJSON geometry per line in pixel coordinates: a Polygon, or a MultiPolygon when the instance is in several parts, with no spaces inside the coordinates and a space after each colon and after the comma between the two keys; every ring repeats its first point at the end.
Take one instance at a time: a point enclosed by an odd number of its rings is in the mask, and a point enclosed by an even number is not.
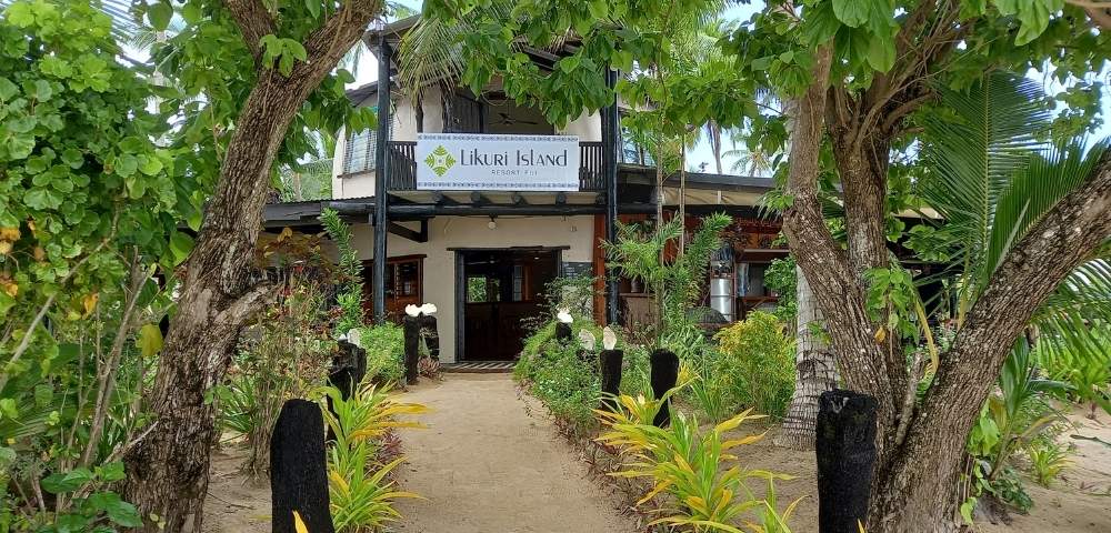
{"type": "MultiPolygon", "coordinates": [[[[790,479],[789,476],[740,465],[721,470],[723,463],[737,460],[729,453],[730,450],[763,438],[761,433],[723,441],[722,435],[745,420],[759,419],[761,415],[750,414],[751,410],[748,410],[703,433],[695,419],[677,412],[671,419],[671,425],[660,429],[645,421],[652,420],[662,400],[645,400],[643,396],[634,399],[628,395],[622,395],[619,400],[620,409],[617,412],[597,411],[602,423],[609,426],[597,441],[617,446],[622,455],[629,457],[624,470],[611,475],[652,479],[653,487],[637,502],[638,505],[664,492],[673,497],[675,509],[663,510],[663,513],[670,514],[655,520],[653,524],[692,527],[698,532],[742,533],[743,530],[733,524],[738,523],[743,513],[762,509],[772,509],[774,512],[774,504],[769,507],[768,501],[754,497],[744,482],[752,477],[771,481],[790,479]]],[[[793,504],[783,515],[777,516],[785,522],[792,509],[793,504]]],[[[762,531],[789,530],[768,527],[762,531]]]]}

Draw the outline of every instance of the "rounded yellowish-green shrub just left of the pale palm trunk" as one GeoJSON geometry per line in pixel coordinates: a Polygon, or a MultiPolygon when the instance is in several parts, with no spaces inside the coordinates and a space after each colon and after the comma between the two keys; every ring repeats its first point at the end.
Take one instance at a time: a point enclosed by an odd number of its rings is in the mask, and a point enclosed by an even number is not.
{"type": "Polygon", "coordinates": [[[754,311],[714,335],[720,359],[712,370],[740,404],[782,416],[794,392],[794,350],[775,316],[754,311]]]}

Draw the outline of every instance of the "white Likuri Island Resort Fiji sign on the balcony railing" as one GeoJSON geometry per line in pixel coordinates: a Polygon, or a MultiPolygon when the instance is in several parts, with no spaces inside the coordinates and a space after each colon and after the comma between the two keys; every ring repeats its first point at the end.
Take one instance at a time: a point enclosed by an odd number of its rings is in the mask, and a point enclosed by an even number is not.
{"type": "Polygon", "coordinates": [[[421,191],[578,191],[575,135],[419,133],[421,191]]]}

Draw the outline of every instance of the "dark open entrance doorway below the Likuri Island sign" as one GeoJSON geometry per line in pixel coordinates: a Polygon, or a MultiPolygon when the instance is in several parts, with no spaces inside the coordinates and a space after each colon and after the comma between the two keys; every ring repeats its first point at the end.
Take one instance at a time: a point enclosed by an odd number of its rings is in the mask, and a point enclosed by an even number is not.
{"type": "Polygon", "coordinates": [[[560,250],[459,250],[456,258],[458,360],[517,359],[524,342],[521,321],[543,311],[560,250]]]}

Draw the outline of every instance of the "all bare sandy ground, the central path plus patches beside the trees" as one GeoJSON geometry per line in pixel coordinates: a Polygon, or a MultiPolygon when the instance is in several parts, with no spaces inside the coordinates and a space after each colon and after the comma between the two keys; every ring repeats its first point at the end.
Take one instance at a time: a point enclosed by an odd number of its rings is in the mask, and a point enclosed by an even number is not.
{"type": "MultiPolygon", "coordinates": [[[[623,513],[628,499],[591,477],[583,457],[559,436],[542,406],[521,398],[508,374],[448,374],[443,381],[422,380],[404,395],[434,411],[421,416],[424,430],[402,430],[409,462],[399,467],[404,490],[427,500],[401,501],[404,516],[393,530],[408,533],[591,532],[633,533],[639,516],[623,513]]],[[[983,533],[1052,531],[1111,532],[1111,447],[1071,435],[1111,442],[1111,416],[1097,420],[1074,412],[1077,429],[1061,439],[1073,443],[1073,465],[1051,487],[1027,479],[1034,507],[1011,514],[1009,524],[978,523],[983,533]]],[[[768,436],[737,450],[741,463],[797,476],[778,482],[782,510],[803,497],[791,519],[800,533],[818,531],[818,489],[813,452],[774,446],[779,428],[752,424],[737,433],[768,430],[768,436]]],[[[732,435],[731,435],[732,436],[732,435]]],[[[213,455],[204,531],[268,533],[270,490],[237,473],[243,452],[233,445],[213,455]]],[[[751,487],[762,496],[763,485],[751,487]]]]}

